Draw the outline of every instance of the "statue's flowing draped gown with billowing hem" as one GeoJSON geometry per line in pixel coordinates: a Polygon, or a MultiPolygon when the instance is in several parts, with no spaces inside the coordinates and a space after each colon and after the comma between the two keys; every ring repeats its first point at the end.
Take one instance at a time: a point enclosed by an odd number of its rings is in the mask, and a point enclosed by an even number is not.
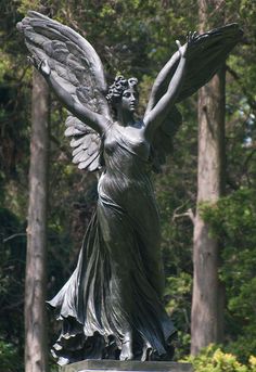
{"type": "Polygon", "coordinates": [[[159,219],[150,144],[113,124],[104,138],[98,204],[72,277],[50,302],[62,320],[60,363],[119,359],[127,332],[133,359],[171,358],[176,330],[163,303],[159,219]]]}

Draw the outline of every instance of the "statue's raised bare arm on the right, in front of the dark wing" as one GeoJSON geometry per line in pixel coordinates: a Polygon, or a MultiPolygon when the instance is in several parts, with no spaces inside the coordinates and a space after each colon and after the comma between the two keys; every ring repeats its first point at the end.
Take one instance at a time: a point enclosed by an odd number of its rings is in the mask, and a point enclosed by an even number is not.
{"type": "Polygon", "coordinates": [[[188,42],[183,47],[181,47],[180,42],[177,41],[179,52],[180,52],[179,65],[175,72],[175,75],[172,76],[169,82],[166,93],[161,98],[157,104],[150,112],[146,112],[144,116],[145,138],[149,141],[152,141],[154,131],[165,119],[166,115],[168,114],[168,112],[171,110],[171,106],[176,102],[176,98],[182,86],[182,81],[183,81],[183,77],[185,73],[187,49],[192,42],[195,35],[196,35],[195,33],[189,34],[188,42]]]}

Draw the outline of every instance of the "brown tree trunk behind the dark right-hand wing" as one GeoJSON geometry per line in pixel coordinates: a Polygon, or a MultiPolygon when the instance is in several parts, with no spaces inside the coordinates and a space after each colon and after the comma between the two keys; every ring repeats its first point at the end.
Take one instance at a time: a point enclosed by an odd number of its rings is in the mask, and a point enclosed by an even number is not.
{"type": "MultiPolygon", "coordinates": [[[[218,3],[216,0],[199,0],[201,31],[213,28],[214,25],[209,25],[207,17],[209,10],[213,12],[218,3]]],[[[223,176],[225,67],[199,92],[197,210],[194,219],[191,313],[193,355],[202,347],[221,342],[222,338],[223,286],[218,279],[219,242],[210,236],[209,226],[200,216],[200,205],[214,205],[218,201],[223,193],[223,176]]]]}

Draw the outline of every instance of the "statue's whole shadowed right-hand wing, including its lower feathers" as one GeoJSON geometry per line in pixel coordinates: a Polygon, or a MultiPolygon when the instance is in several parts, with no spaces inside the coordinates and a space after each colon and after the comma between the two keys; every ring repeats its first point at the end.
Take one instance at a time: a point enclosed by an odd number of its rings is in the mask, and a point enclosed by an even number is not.
{"type": "MultiPolygon", "coordinates": [[[[190,46],[187,56],[187,72],[177,103],[192,95],[217,73],[230,51],[240,41],[243,33],[238,24],[230,24],[197,35],[190,46]]],[[[146,107],[149,113],[167,91],[169,81],[179,64],[180,53],[177,51],[163,67],[152,88],[146,107]]],[[[171,151],[171,140],[182,121],[181,114],[174,106],[157,129],[153,142],[153,166],[159,170],[165,157],[171,151]]]]}

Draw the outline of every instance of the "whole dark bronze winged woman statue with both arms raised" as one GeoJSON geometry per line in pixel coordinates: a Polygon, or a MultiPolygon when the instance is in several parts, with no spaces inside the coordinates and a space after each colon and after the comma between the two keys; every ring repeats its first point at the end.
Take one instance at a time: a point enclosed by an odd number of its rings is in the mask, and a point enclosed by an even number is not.
{"type": "Polygon", "coordinates": [[[159,216],[151,182],[181,124],[176,103],[205,85],[241,37],[236,24],[187,43],[161,70],[143,118],[138,80],[107,88],[91,44],[72,28],[28,12],[17,25],[31,61],[69,114],[73,162],[97,171],[98,203],[77,267],[50,302],[62,321],[60,364],[82,359],[170,360],[176,329],[163,304],[159,216]]]}

